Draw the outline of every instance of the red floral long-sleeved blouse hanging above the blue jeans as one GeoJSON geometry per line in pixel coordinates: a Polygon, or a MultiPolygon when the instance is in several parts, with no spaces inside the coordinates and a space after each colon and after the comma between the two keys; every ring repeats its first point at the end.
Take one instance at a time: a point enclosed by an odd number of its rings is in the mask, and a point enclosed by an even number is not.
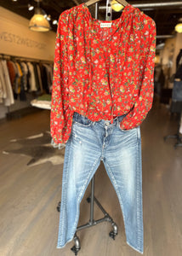
{"type": "Polygon", "coordinates": [[[155,52],[155,21],[129,3],[111,21],[94,19],[86,3],[62,12],[50,114],[54,144],[68,141],[74,112],[92,121],[128,113],[121,129],[140,125],[152,106],[155,52]]]}

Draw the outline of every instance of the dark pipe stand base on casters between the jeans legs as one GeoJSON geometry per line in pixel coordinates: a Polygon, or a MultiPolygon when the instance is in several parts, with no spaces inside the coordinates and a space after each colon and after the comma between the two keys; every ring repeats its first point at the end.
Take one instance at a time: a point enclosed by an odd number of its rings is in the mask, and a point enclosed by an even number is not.
{"type": "MultiPolygon", "coordinates": [[[[96,224],[100,224],[104,221],[111,222],[113,230],[109,233],[109,236],[115,240],[115,236],[117,236],[117,224],[113,221],[109,213],[105,212],[105,209],[100,205],[100,202],[94,197],[94,177],[91,180],[91,195],[87,198],[88,203],[90,203],[90,219],[87,224],[83,224],[82,226],[77,227],[77,231],[87,229],[89,227],[95,226],[96,224]],[[100,218],[98,220],[94,220],[94,202],[100,207],[100,210],[104,213],[105,217],[100,218]]],[[[60,212],[60,202],[57,207],[58,212],[60,212]]],[[[71,247],[71,251],[77,255],[79,250],[81,249],[80,240],[77,236],[77,231],[74,236],[75,245],[71,247]]]]}

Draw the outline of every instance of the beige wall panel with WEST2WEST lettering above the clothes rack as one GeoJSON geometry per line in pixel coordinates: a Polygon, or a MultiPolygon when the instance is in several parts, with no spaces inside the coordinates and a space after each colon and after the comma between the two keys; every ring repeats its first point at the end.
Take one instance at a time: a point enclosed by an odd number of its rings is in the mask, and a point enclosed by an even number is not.
{"type": "Polygon", "coordinates": [[[32,32],[29,20],[0,7],[0,54],[54,61],[55,32],[32,32]]]}

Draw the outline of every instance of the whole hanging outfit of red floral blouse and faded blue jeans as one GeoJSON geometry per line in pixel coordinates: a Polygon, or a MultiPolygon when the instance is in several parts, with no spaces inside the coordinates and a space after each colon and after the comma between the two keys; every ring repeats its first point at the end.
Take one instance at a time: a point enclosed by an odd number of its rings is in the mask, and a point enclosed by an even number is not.
{"type": "Polygon", "coordinates": [[[82,3],[58,24],[50,126],[54,143],[66,144],[57,248],[73,239],[80,202],[102,160],[127,243],[143,253],[140,125],[153,100],[156,24],[131,4],[119,19],[101,23],[82,3]]]}

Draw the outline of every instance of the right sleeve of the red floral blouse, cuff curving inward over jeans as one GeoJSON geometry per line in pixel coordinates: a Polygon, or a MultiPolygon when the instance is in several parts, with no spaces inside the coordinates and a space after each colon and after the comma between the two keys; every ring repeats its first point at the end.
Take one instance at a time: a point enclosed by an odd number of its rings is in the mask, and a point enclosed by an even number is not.
{"type": "Polygon", "coordinates": [[[154,20],[148,22],[145,29],[145,56],[142,59],[144,72],[142,74],[139,96],[134,103],[134,108],[122,119],[120,127],[122,130],[130,130],[139,125],[151,110],[154,94],[154,59],[156,54],[156,23],[154,20]]]}

